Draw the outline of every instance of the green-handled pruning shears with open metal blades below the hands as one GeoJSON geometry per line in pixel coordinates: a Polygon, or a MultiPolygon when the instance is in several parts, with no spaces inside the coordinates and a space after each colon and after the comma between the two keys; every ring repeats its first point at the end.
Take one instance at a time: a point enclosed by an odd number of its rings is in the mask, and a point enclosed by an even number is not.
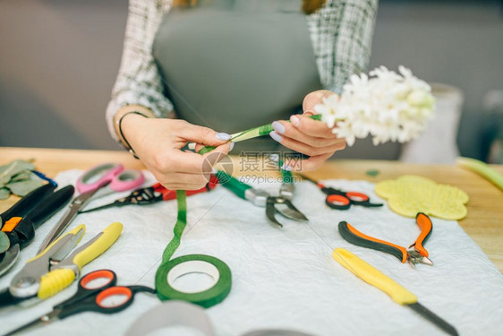
{"type": "Polygon", "coordinates": [[[294,207],[294,204],[290,201],[291,194],[287,194],[285,191],[283,191],[284,194],[280,194],[279,196],[271,196],[266,191],[255,189],[252,185],[246,185],[222,170],[217,171],[217,178],[221,185],[224,185],[234,194],[243,198],[243,200],[250,201],[260,207],[265,207],[268,219],[280,228],[283,228],[283,224],[277,221],[276,213],[290,220],[308,220],[301,211],[294,207]]]}

